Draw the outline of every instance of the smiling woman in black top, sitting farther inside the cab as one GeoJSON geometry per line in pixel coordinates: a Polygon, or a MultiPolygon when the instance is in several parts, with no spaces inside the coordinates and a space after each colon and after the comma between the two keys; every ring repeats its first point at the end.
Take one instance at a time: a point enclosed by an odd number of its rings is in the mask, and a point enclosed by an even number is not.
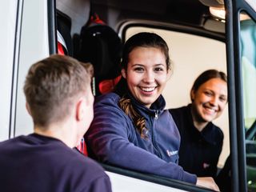
{"type": "Polygon", "coordinates": [[[190,90],[188,106],[170,110],[181,134],[179,165],[198,176],[216,177],[223,133],[212,121],[218,118],[227,102],[226,74],[206,70],[190,90]]]}

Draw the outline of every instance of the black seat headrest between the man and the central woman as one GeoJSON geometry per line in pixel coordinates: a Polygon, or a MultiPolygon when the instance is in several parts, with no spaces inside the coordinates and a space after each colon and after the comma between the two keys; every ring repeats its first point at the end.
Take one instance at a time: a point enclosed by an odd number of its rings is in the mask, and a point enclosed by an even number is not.
{"type": "Polygon", "coordinates": [[[80,38],[79,58],[93,64],[96,80],[116,78],[122,57],[122,41],[118,34],[110,26],[94,24],[82,27],[80,38]]]}

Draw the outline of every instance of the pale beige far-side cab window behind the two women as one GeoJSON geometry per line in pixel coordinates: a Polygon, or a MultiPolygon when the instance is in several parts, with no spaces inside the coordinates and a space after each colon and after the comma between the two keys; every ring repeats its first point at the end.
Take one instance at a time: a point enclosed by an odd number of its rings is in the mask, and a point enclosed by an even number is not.
{"type": "MultiPolygon", "coordinates": [[[[224,38],[222,41],[179,31],[177,28],[159,29],[159,26],[130,25],[122,31],[123,37],[130,38],[138,32],[154,32],[165,39],[170,49],[170,59],[173,63],[173,72],[166,84],[163,96],[166,99],[166,109],[188,105],[190,101],[190,89],[194,79],[205,70],[216,69],[226,73],[226,47],[224,38]],[[182,81],[181,81],[182,79],[182,81]]],[[[227,156],[230,154],[228,107],[214,123],[224,133],[222,154],[218,167],[224,166],[227,156]]]]}

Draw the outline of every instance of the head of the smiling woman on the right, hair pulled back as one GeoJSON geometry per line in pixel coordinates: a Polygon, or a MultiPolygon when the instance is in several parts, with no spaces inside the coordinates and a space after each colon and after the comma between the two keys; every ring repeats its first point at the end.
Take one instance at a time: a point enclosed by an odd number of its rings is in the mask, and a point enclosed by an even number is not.
{"type": "Polygon", "coordinates": [[[222,75],[219,75],[220,78],[218,78],[218,75],[215,78],[210,78],[199,85],[198,88],[196,88],[197,82],[195,82],[191,90],[192,117],[194,125],[200,131],[208,122],[222,114],[227,102],[226,75],[214,70],[208,70],[204,74],[210,74],[210,72],[222,75]]]}

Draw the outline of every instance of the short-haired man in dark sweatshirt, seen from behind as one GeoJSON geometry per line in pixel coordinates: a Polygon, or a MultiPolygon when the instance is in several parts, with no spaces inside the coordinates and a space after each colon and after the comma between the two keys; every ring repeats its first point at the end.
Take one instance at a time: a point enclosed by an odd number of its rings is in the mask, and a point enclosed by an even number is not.
{"type": "Polygon", "coordinates": [[[0,143],[2,191],[111,191],[102,167],[72,149],[94,117],[85,67],[52,55],[30,67],[24,93],[34,133],[0,143]]]}

